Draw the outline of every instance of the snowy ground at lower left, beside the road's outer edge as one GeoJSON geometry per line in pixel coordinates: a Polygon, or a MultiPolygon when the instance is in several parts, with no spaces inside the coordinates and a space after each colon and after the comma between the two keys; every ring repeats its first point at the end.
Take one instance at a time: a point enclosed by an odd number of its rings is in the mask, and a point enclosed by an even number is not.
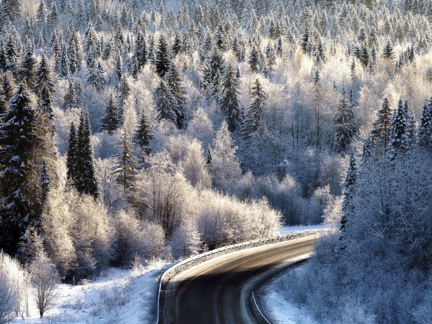
{"type": "Polygon", "coordinates": [[[56,306],[39,318],[30,300],[30,317],[16,324],[147,324],[153,323],[159,277],[168,266],[159,262],[134,271],[108,268],[86,285],[59,286],[56,306]],[[163,269],[162,269],[163,267],[163,269]]]}

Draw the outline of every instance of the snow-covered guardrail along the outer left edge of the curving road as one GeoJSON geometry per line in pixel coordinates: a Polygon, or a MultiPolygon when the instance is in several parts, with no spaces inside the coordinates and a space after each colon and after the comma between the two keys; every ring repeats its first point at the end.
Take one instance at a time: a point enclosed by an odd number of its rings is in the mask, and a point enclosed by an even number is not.
{"type": "Polygon", "coordinates": [[[290,233],[290,234],[284,234],[284,235],[279,235],[279,236],[273,236],[273,237],[269,237],[269,238],[260,238],[257,240],[252,240],[252,241],[245,241],[245,242],[241,242],[241,243],[237,243],[237,244],[233,244],[233,245],[227,245],[224,246],[222,248],[217,248],[215,250],[211,250],[211,251],[207,251],[198,255],[195,255],[193,257],[189,257],[181,262],[178,262],[176,264],[174,264],[172,267],[168,268],[167,270],[165,270],[165,272],[162,274],[160,280],[159,280],[159,292],[158,292],[158,302],[157,302],[157,318],[156,318],[156,324],[159,324],[159,312],[160,312],[160,296],[161,296],[161,290],[162,290],[162,282],[165,279],[166,276],[168,276],[169,273],[172,273],[174,270],[179,269],[180,267],[189,264],[193,261],[196,260],[200,260],[200,259],[206,259],[206,257],[209,257],[213,254],[218,254],[219,252],[222,251],[227,251],[227,250],[235,250],[236,248],[245,248],[248,246],[257,246],[260,245],[260,243],[264,243],[264,242],[268,242],[266,244],[270,244],[271,241],[286,241],[287,238],[291,237],[291,236],[308,236],[310,235],[311,232],[306,232],[306,233],[290,233]]]}

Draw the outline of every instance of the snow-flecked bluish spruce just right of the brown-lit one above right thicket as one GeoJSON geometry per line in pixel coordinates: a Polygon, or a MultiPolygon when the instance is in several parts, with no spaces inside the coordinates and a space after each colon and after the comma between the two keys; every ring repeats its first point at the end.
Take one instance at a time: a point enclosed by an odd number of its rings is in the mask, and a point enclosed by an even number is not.
{"type": "Polygon", "coordinates": [[[408,122],[407,113],[403,107],[402,98],[400,98],[391,120],[388,143],[391,158],[394,158],[398,152],[405,152],[408,149],[408,122]]]}

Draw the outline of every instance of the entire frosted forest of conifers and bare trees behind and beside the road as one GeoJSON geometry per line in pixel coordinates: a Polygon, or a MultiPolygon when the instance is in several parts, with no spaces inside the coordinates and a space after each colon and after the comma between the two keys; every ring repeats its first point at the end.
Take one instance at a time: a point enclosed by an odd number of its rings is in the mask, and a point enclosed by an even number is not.
{"type": "Polygon", "coordinates": [[[0,0],[0,257],[70,283],[336,224],[292,302],[431,323],[431,23],[430,0],[0,0]]]}

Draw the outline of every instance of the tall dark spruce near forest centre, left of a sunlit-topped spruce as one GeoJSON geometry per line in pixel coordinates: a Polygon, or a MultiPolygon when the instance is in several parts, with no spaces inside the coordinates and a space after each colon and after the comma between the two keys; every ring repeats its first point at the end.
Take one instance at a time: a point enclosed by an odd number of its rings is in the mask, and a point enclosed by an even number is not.
{"type": "Polygon", "coordinates": [[[222,100],[220,102],[221,111],[227,118],[229,131],[235,132],[241,121],[240,105],[237,98],[240,92],[238,91],[239,85],[236,70],[231,63],[226,66],[222,84],[224,88],[222,91],[222,100]]]}

